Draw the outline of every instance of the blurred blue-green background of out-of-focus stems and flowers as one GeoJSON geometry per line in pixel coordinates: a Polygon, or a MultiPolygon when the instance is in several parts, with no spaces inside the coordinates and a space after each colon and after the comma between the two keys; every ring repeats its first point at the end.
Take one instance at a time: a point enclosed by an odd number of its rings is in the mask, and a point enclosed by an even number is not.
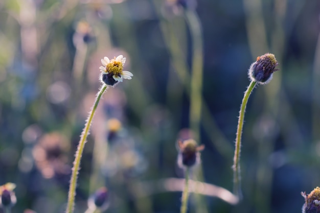
{"type": "Polygon", "coordinates": [[[317,0],[0,1],[0,184],[17,185],[12,212],[64,211],[100,59],[120,54],[134,76],[98,106],[75,212],[102,186],[105,212],[179,212],[181,192],[156,186],[184,177],[176,141],[189,134],[205,145],[192,179],[232,191],[247,69],[267,52],[280,71],[247,105],[244,199],[192,194],[189,212],[301,212],[300,192],[320,185],[319,15],[317,0]]]}

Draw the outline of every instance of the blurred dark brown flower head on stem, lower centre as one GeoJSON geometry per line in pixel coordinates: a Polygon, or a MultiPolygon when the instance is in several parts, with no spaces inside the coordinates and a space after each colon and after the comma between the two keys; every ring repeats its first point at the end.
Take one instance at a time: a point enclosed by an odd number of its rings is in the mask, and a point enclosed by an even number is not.
{"type": "Polygon", "coordinates": [[[178,164],[181,168],[193,167],[200,162],[200,151],[204,149],[204,145],[198,146],[194,139],[178,141],[180,149],[178,155],[178,164]]]}

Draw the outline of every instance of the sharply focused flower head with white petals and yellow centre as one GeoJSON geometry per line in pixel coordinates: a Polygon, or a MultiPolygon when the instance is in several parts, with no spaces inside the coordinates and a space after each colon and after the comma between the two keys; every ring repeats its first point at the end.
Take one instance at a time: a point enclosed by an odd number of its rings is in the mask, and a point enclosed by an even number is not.
{"type": "Polygon", "coordinates": [[[123,66],[126,62],[126,58],[123,55],[118,56],[109,60],[108,57],[101,59],[103,66],[100,66],[102,73],[101,80],[110,86],[115,85],[117,82],[122,82],[122,79],[131,79],[133,76],[129,71],[124,71],[123,66]]]}

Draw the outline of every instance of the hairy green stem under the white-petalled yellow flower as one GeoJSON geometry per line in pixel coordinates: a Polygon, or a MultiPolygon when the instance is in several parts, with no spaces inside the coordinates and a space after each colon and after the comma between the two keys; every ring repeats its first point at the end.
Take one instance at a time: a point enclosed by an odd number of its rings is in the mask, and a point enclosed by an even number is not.
{"type": "Polygon", "coordinates": [[[66,213],[72,213],[74,211],[77,177],[78,177],[78,173],[79,173],[79,169],[80,169],[80,161],[81,161],[81,157],[82,157],[84,144],[85,144],[86,138],[89,134],[89,129],[92,124],[92,121],[93,121],[97,106],[99,104],[99,101],[102,97],[102,94],[105,92],[105,90],[107,88],[108,88],[108,85],[103,85],[101,87],[100,91],[98,92],[95,104],[94,104],[92,110],[89,112],[88,119],[86,121],[86,124],[85,124],[84,129],[81,134],[81,138],[80,138],[78,149],[77,149],[76,156],[75,156],[75,161],[73,163],[73,168],[72,168],[72,175],[71,175],[69,193],[68,193],[68,203],[67,203],[67,208],[65,211],[66,213]]]}

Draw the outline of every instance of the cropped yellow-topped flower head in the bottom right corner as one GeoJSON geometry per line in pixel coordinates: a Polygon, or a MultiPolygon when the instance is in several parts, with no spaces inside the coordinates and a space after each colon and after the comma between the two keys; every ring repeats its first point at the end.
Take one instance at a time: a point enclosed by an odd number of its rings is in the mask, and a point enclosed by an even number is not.
{"type": "Polygon", "coordinates": [[[320,212],[320,188],[316,187],[310,194],[301,192],[302,197],[305,198],[305,203],[302,206],[302,213],[316,213],[320,212]]]}

